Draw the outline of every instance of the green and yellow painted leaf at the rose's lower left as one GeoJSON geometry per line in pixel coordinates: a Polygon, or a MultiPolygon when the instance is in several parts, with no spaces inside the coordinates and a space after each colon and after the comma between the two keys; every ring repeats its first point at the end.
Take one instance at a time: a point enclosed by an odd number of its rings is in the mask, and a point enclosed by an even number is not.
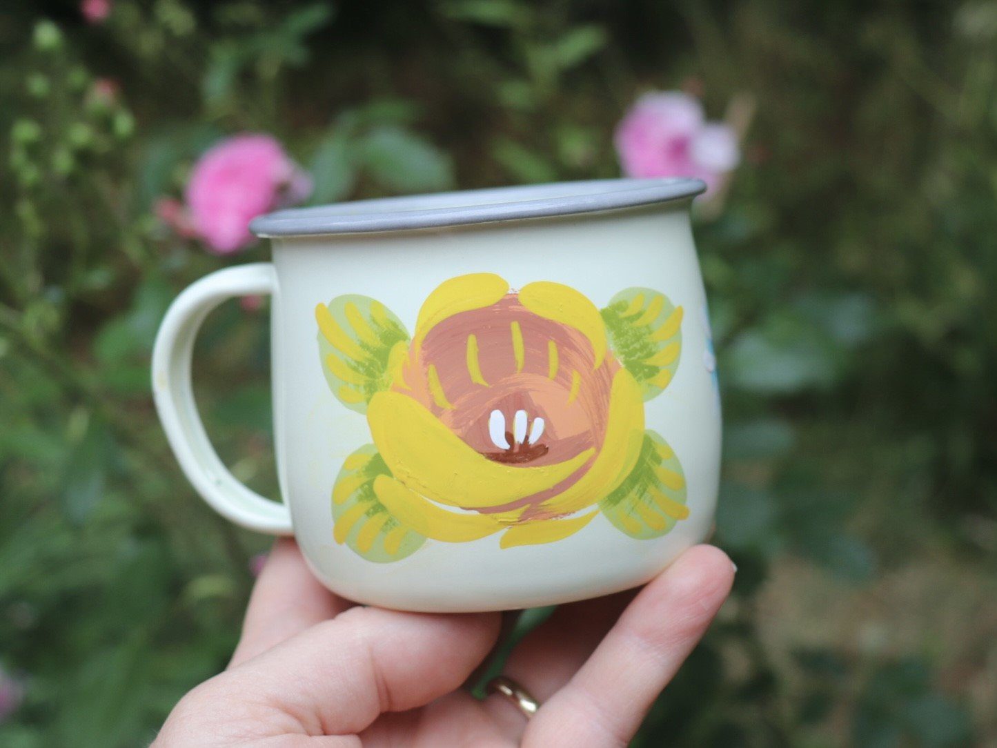
{"type": "Polygon", "coordinates": [[[389,563],[414,554],[426,537],[402,527],[377,500],[378,476],[391,476],[391,471],[373,444],[343,461],[332,489],[333,538],[367,561],[389,563]]]}

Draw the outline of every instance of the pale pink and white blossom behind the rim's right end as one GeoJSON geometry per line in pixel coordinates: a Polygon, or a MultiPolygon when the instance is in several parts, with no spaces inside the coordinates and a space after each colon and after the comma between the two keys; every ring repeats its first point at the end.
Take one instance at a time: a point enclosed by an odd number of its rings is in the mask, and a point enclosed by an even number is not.
{"type": "Polygon", "coordinates": [[[699,100],[680,91],[645,94],[616,128],[627,177],[695,177],[709,190],[741,160],[734,131],[707,122],[699,100]]]}

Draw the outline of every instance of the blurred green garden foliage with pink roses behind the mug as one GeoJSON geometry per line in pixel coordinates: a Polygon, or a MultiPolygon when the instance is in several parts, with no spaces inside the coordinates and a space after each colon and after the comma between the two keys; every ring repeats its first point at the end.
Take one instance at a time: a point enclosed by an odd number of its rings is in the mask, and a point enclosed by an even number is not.
{"type": "MultiPolygon", "coordinates": [[[[227,660],[268,540],[149,358],[251,214],[678,171],[740,571],[636,745],[997,746],[997,2],[12,0],[0,140],[0,745],[144,744],[227,660]]],[[[194,379],[275,496],[266,303],[194,379]]]]}

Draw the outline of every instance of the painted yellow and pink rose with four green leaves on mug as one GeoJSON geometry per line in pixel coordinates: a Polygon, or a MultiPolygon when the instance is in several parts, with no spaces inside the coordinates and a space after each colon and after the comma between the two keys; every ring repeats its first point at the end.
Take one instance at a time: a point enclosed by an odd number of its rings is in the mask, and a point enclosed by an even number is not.
{"type": "Polygon", "coordinates": [[[665,535],[689,514],[685,478],[644,402],[678,367],[682,313],[649,288],[600,310],[569,286],[516,291],[491,273],[442,283],[411,336],[367,296],[319,304],[326,381],[373,440],[336,479],[335,541],[379,562],[427,540],[498,535],[509,549],[600,512],[632,538],[665,535]]]}

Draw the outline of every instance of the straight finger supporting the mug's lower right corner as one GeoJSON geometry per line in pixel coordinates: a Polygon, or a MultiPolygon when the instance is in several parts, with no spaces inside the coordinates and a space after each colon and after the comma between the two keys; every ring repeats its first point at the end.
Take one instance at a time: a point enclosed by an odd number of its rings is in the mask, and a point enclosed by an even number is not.
{"type": "Polygon", "coordinates": [[[734,564],[697,546],[650,582],[526,726],[523,745],[625,746],[727,598],[734,564]]]}

